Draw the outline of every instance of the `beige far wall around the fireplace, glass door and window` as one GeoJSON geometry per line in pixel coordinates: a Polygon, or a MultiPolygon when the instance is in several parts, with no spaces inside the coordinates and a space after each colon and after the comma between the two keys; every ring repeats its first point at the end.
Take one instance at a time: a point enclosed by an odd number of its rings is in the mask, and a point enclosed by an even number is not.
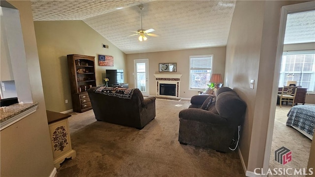
{"type": "Polygon", "coordinates": [[[129,87],[134,87],[134,59],[149,59],[149,94],[156,95],[156,78],[154,74],[168,74],[158,72],[158,63],[177,63],[177,72],[182,74],[180,83],[180,97],[190,98],[198,94],[197,90],[189,90],[189,56],[191,55],[214,55],[213,73],[221,73],[224,77],[225,47],[189,49],[165,52],[150,52],[140,54],[127,54],[127,76],[129,87]]]}

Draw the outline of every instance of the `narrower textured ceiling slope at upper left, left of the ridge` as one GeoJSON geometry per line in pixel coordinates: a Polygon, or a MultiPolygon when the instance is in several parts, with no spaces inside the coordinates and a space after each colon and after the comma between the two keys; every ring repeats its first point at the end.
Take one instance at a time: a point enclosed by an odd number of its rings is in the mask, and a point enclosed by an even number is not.
{"type": "MultiPolygon", "coordinates": [[[[84,20],[150,0],[32,0],[34,21],[84,20]]],[[[151,0],[152,1],[152,0],[151,0]]]]}

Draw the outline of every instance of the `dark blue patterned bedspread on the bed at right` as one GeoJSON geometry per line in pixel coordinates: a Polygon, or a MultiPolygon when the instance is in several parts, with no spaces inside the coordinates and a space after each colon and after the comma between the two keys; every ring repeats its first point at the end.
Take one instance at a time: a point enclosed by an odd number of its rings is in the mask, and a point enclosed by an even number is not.
{"type": "Polygon", "coordinates": [[[286,125],[296,126],[310,135],[314,135],[315,106],[293,106],[287,114],[286,125]]]}

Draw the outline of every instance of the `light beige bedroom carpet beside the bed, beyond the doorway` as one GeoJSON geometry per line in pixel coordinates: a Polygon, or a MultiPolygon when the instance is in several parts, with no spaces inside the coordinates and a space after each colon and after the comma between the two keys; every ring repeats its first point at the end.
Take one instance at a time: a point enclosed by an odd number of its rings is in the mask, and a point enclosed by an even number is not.
{"type": "Polygon", "coordinates": [[[294,128],[285,125],[287,120],[286,115],[290,109],[291,106],[283,105],[282,108],[280,108],[280,106],[277,105],[274,134],[272,139],[271,154],[269,160],[270,169],[307,168],[312,140],[310,140],[309,138],[307,138],[305,135],[295,130],[294,128]],[[275,161],[274,155],[275,150],[283,146],[292,151],[292,161],[285,165],[282,165],[275,161]]]}

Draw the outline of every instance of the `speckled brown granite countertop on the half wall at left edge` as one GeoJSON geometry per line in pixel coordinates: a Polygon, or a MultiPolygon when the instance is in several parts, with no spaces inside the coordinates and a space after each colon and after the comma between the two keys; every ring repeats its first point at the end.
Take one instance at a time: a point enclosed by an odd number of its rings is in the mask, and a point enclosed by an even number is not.
{"type": "Polygon", "coordinates": [[[13,118],[14,116],[17,116],[35,106],[37,106],[39,103],[23,103],[23,104],[13,104],[6,107],[0,108],[0,123],[4,122],[5,120],[8,120],[10,118],[13,118]]]}

